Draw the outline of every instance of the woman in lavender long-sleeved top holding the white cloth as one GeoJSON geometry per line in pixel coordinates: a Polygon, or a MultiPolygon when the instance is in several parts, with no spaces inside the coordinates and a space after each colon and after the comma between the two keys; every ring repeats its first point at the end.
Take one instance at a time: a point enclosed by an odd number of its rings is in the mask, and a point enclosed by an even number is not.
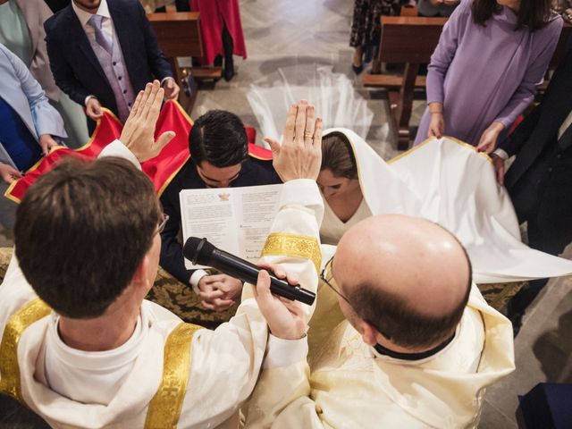
{"type": "Polygon", "coordinates": [[[427,72],[415,144],[446,134],[487,153],[534,99],[559,40],[551,0],[463,0],[427,72]]]}

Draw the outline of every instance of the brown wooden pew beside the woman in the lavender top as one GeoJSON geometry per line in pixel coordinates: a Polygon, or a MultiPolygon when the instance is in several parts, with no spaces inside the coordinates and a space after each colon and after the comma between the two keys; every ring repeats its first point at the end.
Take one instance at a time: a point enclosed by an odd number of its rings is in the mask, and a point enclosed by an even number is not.
{"type": "MultiPolygon", "coordinates": [[[[366,74],[363,83],[366,87],[388,88],[391,114],[398,130],[398,148],[401,150],[407,149],[410,144],[409,120],[414,90],[425,88],[425,76],[417,76],[419,66],[430,62],[447,20],[448,18],[382,16],[379,60],[384,63],[403,63],[405,70],[402,76],[366,74]]],[[[565,24],[551,59],[551,68],[564,55],[571,31],[572,26],[565,24]]]]}

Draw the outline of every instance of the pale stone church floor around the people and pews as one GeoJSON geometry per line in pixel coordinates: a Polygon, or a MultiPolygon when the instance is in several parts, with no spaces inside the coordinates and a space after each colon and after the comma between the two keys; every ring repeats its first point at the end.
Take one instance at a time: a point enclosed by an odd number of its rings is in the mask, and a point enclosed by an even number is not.
{"type": "MultiPolygon", "coordinates": [[[[229,110],[257,128],[260,142],[260,129],[246,97],[250,84],[278,67],[328,64],[355,81],[357,91],[374,112],[368,142],[383,159],[397,155],[385,94],[363,88],[360,77],[355,78],[351,71],[348,40],[352,4],[347,0],[241,0],[248,59],[235,58],[237,75],[230,82],[221,80],[214,88],[201,89],[191,116],[197,118],[214,108],[229,110]]],[[[188,63],[181,61],[181,65],[188,63]]],[[[413,124],[419,122],[423,109],[423,103],[416,102],[413,124]]],[[[13,244],[12,232],[1,224],[6,212],[12,210],[8,206],[11,203],[4,201],[0,205],[0,247],[13,244]]],[[[566,256],[572,257],[572,248],[566,256]]],[[[517,336],[517,370],[487,391],[479,427],[517,427],[517,395],[525,394],[536,383],[572,383],[571,334],[572,278],[553,279],[530,307],[517,336]]],[[[13,405],[0,397],[0,429],[44,427],[28,417],[15,417],[14,412],[13,405]]]]}

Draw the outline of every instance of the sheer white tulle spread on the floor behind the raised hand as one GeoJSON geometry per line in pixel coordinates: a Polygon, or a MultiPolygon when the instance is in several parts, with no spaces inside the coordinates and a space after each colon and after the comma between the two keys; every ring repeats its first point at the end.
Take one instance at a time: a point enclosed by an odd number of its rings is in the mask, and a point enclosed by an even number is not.
{"type": "Polygon", "coordinates": [[[345,74],[332,72],[332,66],[328,65],[280,67],[253,83],[247,98],[263,135],[279,141],[286,112],[302,99],[315,105],[316,114],[324,120],[324,129],[349,128],[366,139],[374,119],[353,82],[345,74]]]}

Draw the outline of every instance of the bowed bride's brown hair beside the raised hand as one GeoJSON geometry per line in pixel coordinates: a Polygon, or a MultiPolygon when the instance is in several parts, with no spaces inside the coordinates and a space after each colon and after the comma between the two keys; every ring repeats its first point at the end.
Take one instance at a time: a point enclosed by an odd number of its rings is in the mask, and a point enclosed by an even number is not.
{"type": "Polygon", "coordinates": [[[330,170],[336,177],[357,179],[357,163],[349,139],[341,132],[334,131],[322,139],[322,166],[320,170],[330,170]]]}

